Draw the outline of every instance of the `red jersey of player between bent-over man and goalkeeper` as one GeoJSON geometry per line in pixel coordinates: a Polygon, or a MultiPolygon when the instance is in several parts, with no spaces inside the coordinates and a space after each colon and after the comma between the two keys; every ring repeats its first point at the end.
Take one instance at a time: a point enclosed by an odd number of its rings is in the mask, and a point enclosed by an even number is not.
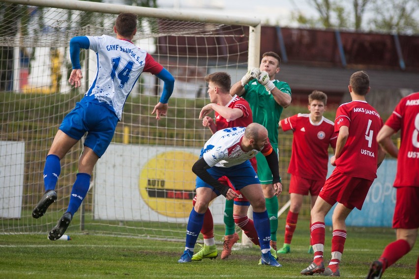
{"type": "MultiPolygon", "coordinates": [[[[243,98],[234,95],[233,99],[231,99],[226,107],[230,109],[239,109],[243,112],[243,115],[233,121],[230,121],[219,115],[218,112],[215,112],[215,126],[217,127],[217,131],[225,128],[247,127],[247,125],[253,123],[252,110],[250,109],[249,103],[243,98]]],[[[251,158],[250,163],[255,171],[257,171],[256,157],[251,158]]]]}

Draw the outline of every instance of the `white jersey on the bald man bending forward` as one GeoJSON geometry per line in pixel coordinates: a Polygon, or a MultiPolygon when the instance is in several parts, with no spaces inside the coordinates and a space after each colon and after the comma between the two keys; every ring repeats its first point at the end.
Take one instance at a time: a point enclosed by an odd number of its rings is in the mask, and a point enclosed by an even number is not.
{"type": "MultiPolygon", "coordinates": [[[[205,143],[202,152],[205,162],[213,167],[233,167],[244,163],[256,156],[261,150],[244,151],[240,143],[244,136],[245,127],[226,128],[217,131],[205,143]]],[[[262,151],[272,148],[270,143],[262,151]]]]}

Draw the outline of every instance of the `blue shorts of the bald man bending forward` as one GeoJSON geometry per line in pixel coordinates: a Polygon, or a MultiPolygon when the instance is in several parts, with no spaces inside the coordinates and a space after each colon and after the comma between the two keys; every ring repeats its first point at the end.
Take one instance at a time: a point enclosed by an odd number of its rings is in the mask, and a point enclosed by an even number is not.
{"type": "MultiPolygon", "coordinates": [[[[233,167],[210,167],[207,171],[217,180],[221,176],[227,176],[236,190],[240,190],[247,185],[260,184],[258,175],[248,160],[233,167]]],[[[196,188],[200,187],[211,188],[217,195],[220,195],[217,190],[197,176],[196,188]]]]}

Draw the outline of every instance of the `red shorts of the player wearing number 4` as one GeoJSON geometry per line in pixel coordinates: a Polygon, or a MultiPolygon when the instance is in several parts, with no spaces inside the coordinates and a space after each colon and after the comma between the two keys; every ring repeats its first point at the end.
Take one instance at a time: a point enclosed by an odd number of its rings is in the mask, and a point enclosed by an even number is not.
{"type": "Polygon", "coordinates": [[[349,209],[361,210],[371,184],[371,180],[348,176],[335,168],[319,196],[330,205],[337,201],[349,209]]]}

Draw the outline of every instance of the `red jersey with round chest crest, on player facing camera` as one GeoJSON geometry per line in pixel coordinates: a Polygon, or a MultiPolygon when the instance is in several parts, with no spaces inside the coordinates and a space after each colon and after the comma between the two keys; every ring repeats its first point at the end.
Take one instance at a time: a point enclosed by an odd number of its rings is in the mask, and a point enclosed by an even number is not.
{"type": "Polygon", "coordinates": [[[310,114],[299,113],[281,120],[283,131],[293,130],[293,149],[288,173],[312,180],[325,180],[328,174],[329,144],[336,147],[334,123],[323,117],[313,123],[310,114]]]}

